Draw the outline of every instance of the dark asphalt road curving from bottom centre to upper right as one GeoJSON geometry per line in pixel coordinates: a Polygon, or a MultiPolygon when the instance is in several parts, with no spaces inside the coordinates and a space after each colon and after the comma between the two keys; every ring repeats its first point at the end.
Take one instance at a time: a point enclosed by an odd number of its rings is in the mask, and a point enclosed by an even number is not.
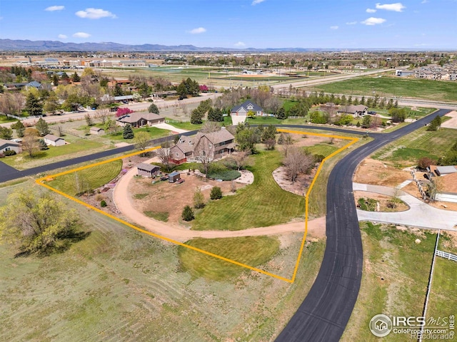
{"type": "MultiPolygon", "coordinates": [[[[436,114],[448,112],[438,110],[436,114]]],[[[435,116],[392,133],[371,135],[375,140],[353,150],[333,168],[327,185],[327,242],[321,269],[308,296],[276,341],[339,341],[356,304],[362,278],[363,251],[352,192],[353,173],[372,152],[423,127],[435,116]]]]}

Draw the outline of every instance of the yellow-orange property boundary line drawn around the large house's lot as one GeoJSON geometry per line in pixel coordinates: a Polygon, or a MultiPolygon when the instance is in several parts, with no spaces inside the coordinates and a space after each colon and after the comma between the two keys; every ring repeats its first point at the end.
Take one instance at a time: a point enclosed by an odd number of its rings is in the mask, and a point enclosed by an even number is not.
{"type": "Polygon", "coordinates": [[[193,247],[193,246],[190,246],[189,244],[184,244],[182,242],[178,242],[178,241],[175,241],[174,239],[169,239],[168,237],[163,237],[159,234],[155,234],[153,232],[149,232],[147,230],[144,230],[144,229],[141,229],[139,227],[136,227],[134,226],[134,224],[130,224],[129,222],[126,222],[124,221],[123,219],[119,219],[119,217],[115,217],[114,215],[111,215],[107,212],[104,212],[103,210],[101,209],[98,209],[96,207],[93,207],[91,206],[90,204],[87,204],[85,202],[82,202],[80,199],[77,199],[75,197],[72,197],[70,195],[67,195],[66,193],[64,192],[61,192],[60,190],[57,190],[55,189],[54,187],[50,187],[49,185],[47,185],[45,182],[46,180],[49,180],[50,178],[55,178],[55,177],[59,177],[59,176],[63,176],[63,175],[68,175],[69,173],[72,173],[72,172],[76,172],[76,171],[81,171],[81,170],[85,170],[85,169],[89,169],[90,167],[94,167],[94,166],[99,166],[99,165],[104,165],[104,164],[107,164],[109,162],[114,162],[115,160],[121,160],[121,159],[124,159],[126,157],[131,157],[133,155],[139,155],[141,153],[144,153],[144,152],[149,152],[149,151],[152,151],[152,150],[156,150],[158,149],[159,147],[152,147],[152,148],[149,148],[148,150],[142,150],[142,151],[139,151],[139,152],[134,152],[134,153],[130,153],[129,155],[122,155],[121,157],[114,157],[114,158],[111,158],[109,160],[104,160],[103,162],[96,162],[94,164],[91,164],[91,165],[86,165],[86,166],[81,166],[81,167],[76,167],[75,169],[72,169],[72,170],[68,170],[68,171],[64,171],[64,172],[59,172],[59,173],[56,173],[55,175],[48,175],[48,176],[45,176],[45,177],[41,177],[39,179],[36,180],[36,183],[38,185],[41,185],[42,187],[46,187],[47,189],[51,190],[51,191],[54,191],[56,193],[58,193],[59,195],[61,196],[64,196],[68,199],[71,199],[72,201],[76,202],[76,203],[79,203],[81,205],[84,205],[84,207],[88,207],[89,209],[92,209],[96,212],[99,212],[100,214],[103,214],[107,217],[110,217],[111,219],[114,219],[115,221],[117,222],[120,222],[121,224],[125,224],[127,227],[130,227],[132,229],[135,229],[137,230],[138,232],[141,232],[141,233],[144,233],[144,234],[148,234],[150,235],[151,237],[156,237],[156,238],[159,238],[159,239],[162,239],[162,240],[165,240],[167,242],[171,242],[173,244],[177,244],[179,246],[182,246],[182,247],[186,247],[186,248],[189,248],[189,249],[193,249],[194,251],[196,252],[201,252],[203,254],[206,254],[206,255],[209,255],[211,257],[215,257],[215,258],[218,258],[218,259],[221,259],[221,260],[224,260],[224,261],[228,261],[230,262],[231,264],[236,264],[238,266],[242,266],[242,267],[245,267],[246,269],[251,269],[253,271],[257,271],[261,274],[266,274],[267,276],[272,276],[273,278],[276,278],[276,279],[281,279],[283,281],[287,281],[288,283],[293,283],[293,281],[295,281],[295,278],[296,278],[296,274],[297,274],[297,271],[298,271],[298,265],[300,264],[300,259],[301,259],[301,254],[303,252],[303,247],[305,246],[305,242],[306,242],[306,235],[308,234],[308,199],[309,199],[309,195],[311,194],[311,190],[313,189],[313,186],[316,182],[316,179],[318,177],[318,175],[321,173],[321,170],[322,170],[322,166],[324,165],[324,163],[326,162],[326,160],[330,159],[331,157],[337,155],[339,152],[342,152],[343,150],[346,150],[346,148],[348,148],[349,146],[355,144],[356,142],[358,142],[358,138],[349,138],[349,137],[344,137],[344,136],[341,136],[341,135],[328,135],[328,134],[323,134],[323,133],[309,133],[309,132],[301,132],[301,131],[298,131],[298,130],[283,130],[283,129],[278,129],[278,132],[283,132],[283,133],[293,133],[293,134],[301,134],[301,135],[316,135],[316,136],[320,136],[320,137],[326,137],[326,138],[337,138],[337,139],[343,139],[343,140],[351,140],[351,142],[349,142],[348,144],[344,145],[343,147],[341,147],[340,149],[336,150],[335,152],[331,153],[331,155],[328,155],[326,158],[324,158],[321,162],[321,164],[319,165],[318,167],[318,170],[316,171],[316,175],[313,177],[313,181],[311,182],[311,185],[310,187],[308,188],[308,192],[306,192],[306,197],[305,197],[305,231],[304,231],[304,234],[303,234],[303,239],[301,241],[301,247],[300,247],[300,252],[298,252],[298,257],[297,257],[297,260],[296,260],[296,264],[295,264],[295,267],[293,269],[293,275],[291,277],[291,279],[287,279],[287,278],[284,278],[283,276],[278,276],[277,274],[273,274],[273,273],[270,273],[268,271],[263,271],[263,269],[258,269],[256,267],[253,267],[253,266],[249,266],[249,265],[246,265],[246,264],[243,264],[241,262],[238,262],[238,261],[235,261],[235,260],[232,260],[232,259],[227,259],[225,257],[221,257],[220,255],[217,255],[217,254],[214,254],[214,253],[211,253],[211,252],[207,252],[207,251],[204,251],[203,249],[199,249],[199,248],[196,248],[196,247],[193,247]]]}

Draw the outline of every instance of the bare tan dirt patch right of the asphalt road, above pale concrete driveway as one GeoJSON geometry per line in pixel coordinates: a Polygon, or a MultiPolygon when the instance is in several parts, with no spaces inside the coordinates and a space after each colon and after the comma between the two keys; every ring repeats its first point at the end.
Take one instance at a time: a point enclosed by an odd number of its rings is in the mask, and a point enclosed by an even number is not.
{"type": "Polygon", "coordinates": [[[354,182],[396,187],[405,180],[411,180],[411,178],[411,174],[408,171],[397,170],[379,160],[367,158],[358,165],[354,182]]]}

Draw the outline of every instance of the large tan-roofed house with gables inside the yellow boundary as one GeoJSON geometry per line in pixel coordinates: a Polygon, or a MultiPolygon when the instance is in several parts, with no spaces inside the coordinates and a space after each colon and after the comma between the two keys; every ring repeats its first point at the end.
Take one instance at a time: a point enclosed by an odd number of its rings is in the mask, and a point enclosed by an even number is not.
{"type": "Polygon", "coordinates": [[[181,136],[170,148],[170,161],[182,164],[187,161],[216,160],[235,149],[235,137],[226,129],[211,133],[197,133],[194,138],[181,136]]]}

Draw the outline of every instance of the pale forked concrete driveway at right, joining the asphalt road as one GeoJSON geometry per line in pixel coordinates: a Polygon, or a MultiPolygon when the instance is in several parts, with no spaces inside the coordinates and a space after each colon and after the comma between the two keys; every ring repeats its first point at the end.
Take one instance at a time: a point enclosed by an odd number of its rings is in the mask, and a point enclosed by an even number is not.
{"type": "MultiPolygon", "coordinates": [[[[392,196],[394,191],[391,187],[360,183],[353,183],[353,190],[375,192],[387,196],[392,196]]],[[[410,207],[406,212],[366,212],[365,210],[357,209],[358,221],[457,231],[457,212],[431,207],[401,190],[399,190],[398,197],[410,207]]]]}

